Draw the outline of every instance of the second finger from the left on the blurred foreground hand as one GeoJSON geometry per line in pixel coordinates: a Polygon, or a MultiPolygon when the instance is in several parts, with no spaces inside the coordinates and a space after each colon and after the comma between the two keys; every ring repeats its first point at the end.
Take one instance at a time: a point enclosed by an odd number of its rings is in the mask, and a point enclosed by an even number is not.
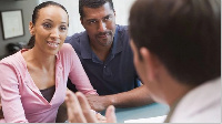
{"type": "Polygon", "coordinates": [[[82,112],[84,114],[87,122],[88,123],[97,123],[98,120],[97,120],[95,115],[91,112],[91,107],[89,105],[87,97],[80,92],[77,93],[77,97],[80,102],[80,106],[82,107],[82,112]]]}

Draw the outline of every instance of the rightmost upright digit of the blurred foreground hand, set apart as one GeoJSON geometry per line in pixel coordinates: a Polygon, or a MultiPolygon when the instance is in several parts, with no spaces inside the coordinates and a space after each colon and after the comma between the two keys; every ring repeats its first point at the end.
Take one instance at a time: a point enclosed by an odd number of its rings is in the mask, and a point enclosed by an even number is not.
{"type": "Polygon", "coordinates": [[[105,112],[107,123],[117,123],[117,117],[114,114],[114,106],[110,105],[105,112]]]}

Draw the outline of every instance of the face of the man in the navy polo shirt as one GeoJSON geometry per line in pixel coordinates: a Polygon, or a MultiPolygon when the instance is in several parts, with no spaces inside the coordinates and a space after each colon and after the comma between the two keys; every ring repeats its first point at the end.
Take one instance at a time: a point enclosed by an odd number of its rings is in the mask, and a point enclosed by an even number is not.
{"type": "Polygon", "coordinates": [[[84,17],[81,23],[88,32],[93,45],[108,46],[113,42],[115,32],[115,12],[107,2],[100,8],[83,7],[84,17]]]}

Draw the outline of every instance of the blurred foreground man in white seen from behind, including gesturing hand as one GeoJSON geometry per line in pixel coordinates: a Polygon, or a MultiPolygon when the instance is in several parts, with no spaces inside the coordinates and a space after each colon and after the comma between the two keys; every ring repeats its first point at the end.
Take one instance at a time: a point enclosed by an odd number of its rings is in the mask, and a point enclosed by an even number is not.
{"type": "MultiPolygon", "coordinates": [[[[135,69],[151,97],[170,105],[165,122],[221,122],[220,28],[220,0],[138,0],[133,4],[130,34],[135,69]]],[[[89,104],[81,93],[68,92],[67,105],[70,122],[97,122],[87,114],[89,104]]],[[[113,110],[107,111],[110,123],[115,120],[113,110]]]]}

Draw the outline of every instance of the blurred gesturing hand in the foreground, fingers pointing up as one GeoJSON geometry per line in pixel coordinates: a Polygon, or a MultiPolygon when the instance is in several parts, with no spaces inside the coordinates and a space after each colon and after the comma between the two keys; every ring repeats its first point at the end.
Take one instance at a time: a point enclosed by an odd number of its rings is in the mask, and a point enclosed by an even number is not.
{"type": "MultiPolygon", "coordinates": [[[[73,94],[71,91],[67,91],[65,97],[68,108],[68,120],[70,123],[114,123],[115,114],[114,106],[109,106],[105,112],[107,120],[98,120],[88,103],[87,97],[78,92],[73,94]]],[[[102,115],[101,115],[102,116],[102,115]]]]}

